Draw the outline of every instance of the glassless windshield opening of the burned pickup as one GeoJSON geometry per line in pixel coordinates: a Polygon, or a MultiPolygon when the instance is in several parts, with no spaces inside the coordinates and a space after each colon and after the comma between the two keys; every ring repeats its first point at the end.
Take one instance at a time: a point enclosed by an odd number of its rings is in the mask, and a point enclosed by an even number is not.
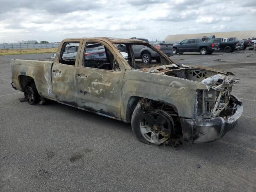
{"type": "Polygon", "coordinates": [[[163,53],[159,52],[157,48],[149,44],[116,43],[114,46],[120,52],[127,53],[126,61],[133,69],[172,65],[174,63],[170,58],[164,57],[163,53]]]}

